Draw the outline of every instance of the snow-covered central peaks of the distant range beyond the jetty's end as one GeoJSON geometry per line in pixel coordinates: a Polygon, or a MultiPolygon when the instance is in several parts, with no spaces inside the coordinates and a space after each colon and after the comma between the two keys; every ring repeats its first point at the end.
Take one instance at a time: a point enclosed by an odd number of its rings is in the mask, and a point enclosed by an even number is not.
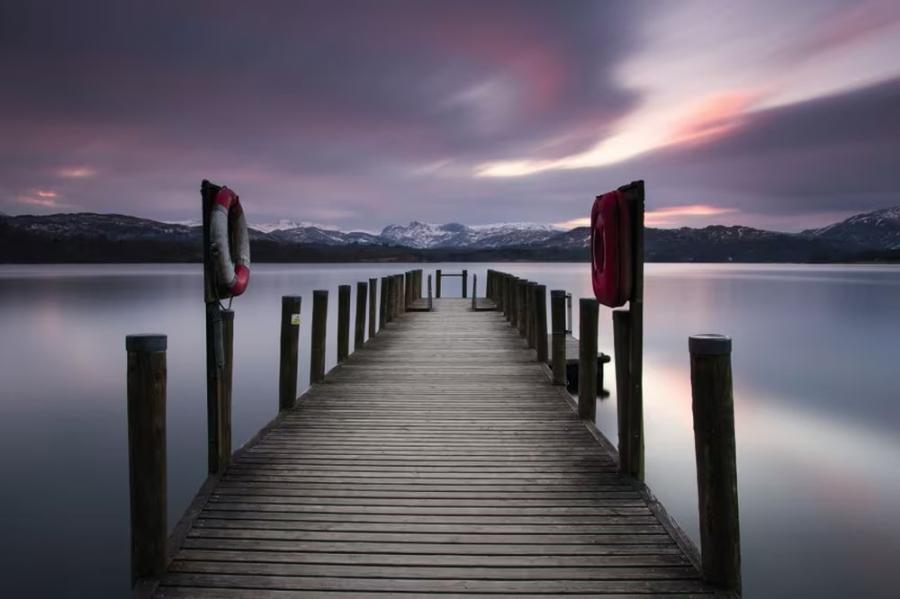
{"type": "Polygon", "coordinates": [[[381,237],[398,245],[417,249],[484,249],[535,245],[559,233],[550,225],[533,223],[466,226],[459,223],[435,225],[413,221],[408,225],[389,225],[381,232],[381,237]]]}

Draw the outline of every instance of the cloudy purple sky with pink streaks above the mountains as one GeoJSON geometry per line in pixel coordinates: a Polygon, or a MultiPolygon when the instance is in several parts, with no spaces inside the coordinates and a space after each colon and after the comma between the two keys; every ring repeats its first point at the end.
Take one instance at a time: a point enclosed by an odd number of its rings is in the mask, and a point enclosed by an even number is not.
{"type": "Polygon", "coordinates": [[[800,230],[900,205],[900,0],[0,4],[0,211],[800,230]]]}

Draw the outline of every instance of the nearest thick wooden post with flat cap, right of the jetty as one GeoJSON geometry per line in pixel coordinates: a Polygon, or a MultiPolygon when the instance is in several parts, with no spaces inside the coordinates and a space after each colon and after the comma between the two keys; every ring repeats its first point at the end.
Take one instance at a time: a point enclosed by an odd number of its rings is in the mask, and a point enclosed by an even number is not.
{"type": "Polygon", "coordinates": [[[688,346],[703,578],[739,593],[741,540],[731,339],[722,335],[695,335],[689,339],[688,346]]]}

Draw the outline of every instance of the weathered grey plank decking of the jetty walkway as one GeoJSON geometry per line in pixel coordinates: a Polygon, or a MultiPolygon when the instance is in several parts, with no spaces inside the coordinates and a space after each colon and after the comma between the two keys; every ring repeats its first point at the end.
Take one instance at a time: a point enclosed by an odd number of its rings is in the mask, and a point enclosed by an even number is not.
{"type": "Polygon", "coordinates": [[[236,455],[158,597],[710,592],[503,316],[434,306],[236,455]]]}

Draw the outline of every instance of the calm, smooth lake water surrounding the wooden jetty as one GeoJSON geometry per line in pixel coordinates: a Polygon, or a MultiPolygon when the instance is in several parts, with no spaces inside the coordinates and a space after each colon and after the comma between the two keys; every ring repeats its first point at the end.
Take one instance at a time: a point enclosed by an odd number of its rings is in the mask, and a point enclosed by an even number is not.
{"type": "MultiPolygon", "coordinates": [[[[337,286],[422,266],[590,295],[586,264],[257,265],[234,302],[234,446],[277,410],[282,295],[303,296],[308,323],[312,289],[331,290],[330,367],[337,286]]],[[[443,287],[459,294],[458,279],[443,287]]],[[[900,268],[653,264],[645,302],[647,482],[678,523],[697,540],[687,337],[728,334],[745,596],[896,596],[900,268]]],[[[169,336],[171,525],[206,474],[203,316],[198,265],[0,266],[4,596],[125,596],[125,335],[169,336]]],[[[605,309],[600,324],[612,353],[605,309]]],[[[615,442],[607,368],[597,420],[615,442]]]]}

